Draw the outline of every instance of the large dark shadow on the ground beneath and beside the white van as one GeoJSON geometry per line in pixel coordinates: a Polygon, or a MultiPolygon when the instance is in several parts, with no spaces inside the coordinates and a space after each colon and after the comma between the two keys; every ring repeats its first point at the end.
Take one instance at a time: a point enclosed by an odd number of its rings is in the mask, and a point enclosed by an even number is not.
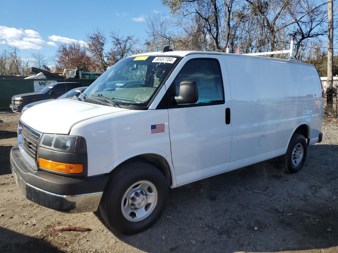
{"type": "Polygon", "coordinates": [[[295,174],[281,172],[273,159],[171,189],[167,209],[152,228],[115,235],[152,253],[335,247],[337,164],[337,145],[316,145],[295,174]]]}

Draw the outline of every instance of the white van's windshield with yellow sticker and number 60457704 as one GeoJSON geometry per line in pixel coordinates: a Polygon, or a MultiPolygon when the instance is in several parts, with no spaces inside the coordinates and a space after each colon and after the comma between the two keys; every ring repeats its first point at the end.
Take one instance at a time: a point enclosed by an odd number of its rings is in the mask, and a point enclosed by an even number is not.
{"type": "Polygon", "coordinates": [[[177,61],[173,56],[124,58],[96,79],[84,95],[101,94],[119,105],[146,106],[177,61]]]}

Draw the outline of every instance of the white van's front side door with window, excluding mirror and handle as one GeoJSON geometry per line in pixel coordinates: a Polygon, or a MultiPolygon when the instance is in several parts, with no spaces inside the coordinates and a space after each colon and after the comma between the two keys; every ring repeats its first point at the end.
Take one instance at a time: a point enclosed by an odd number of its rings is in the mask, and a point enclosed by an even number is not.
{"type": "Polygon", "coordinates": [[[176,184],[223,173],[228,170],[232,142],[231,123],[225,122],[231,108],[227,69],[221,55],[184,58],[168,89],[178,95],[182,81],[195,81],[198,100],[193,104],[169,105],[169,135],[176,184]],[[174,86],[174,87],[173,87],[174,86]]]}

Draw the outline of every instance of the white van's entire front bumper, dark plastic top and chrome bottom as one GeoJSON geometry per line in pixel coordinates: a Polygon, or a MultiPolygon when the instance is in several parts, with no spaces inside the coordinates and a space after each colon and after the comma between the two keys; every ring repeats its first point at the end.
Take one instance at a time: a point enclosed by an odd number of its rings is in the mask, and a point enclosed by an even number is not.
{"type": "Polygon", "coordinates": [[[32,169],[18,146],[10,151],[10,167],[22,194],[29,200],[61,212],[95,212],[109,176],[65,177],[32,169]]]}

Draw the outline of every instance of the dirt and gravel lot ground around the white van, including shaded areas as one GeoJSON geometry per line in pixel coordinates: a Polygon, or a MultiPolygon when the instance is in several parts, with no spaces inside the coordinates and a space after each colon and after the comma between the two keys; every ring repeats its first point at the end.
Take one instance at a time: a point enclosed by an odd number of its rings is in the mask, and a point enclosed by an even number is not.
{"type": "Polygon", "coordinates": [[[0,112],[0,252],[338,252],[337,125],[323,125],[300,172],[269,160],[171,189],[162,218],[124,236],[94,213],[59,213],[23,197],[9,167],[19,116],[0,112]],[[92,231],[50,230],[57,225],[92,231]]]}

